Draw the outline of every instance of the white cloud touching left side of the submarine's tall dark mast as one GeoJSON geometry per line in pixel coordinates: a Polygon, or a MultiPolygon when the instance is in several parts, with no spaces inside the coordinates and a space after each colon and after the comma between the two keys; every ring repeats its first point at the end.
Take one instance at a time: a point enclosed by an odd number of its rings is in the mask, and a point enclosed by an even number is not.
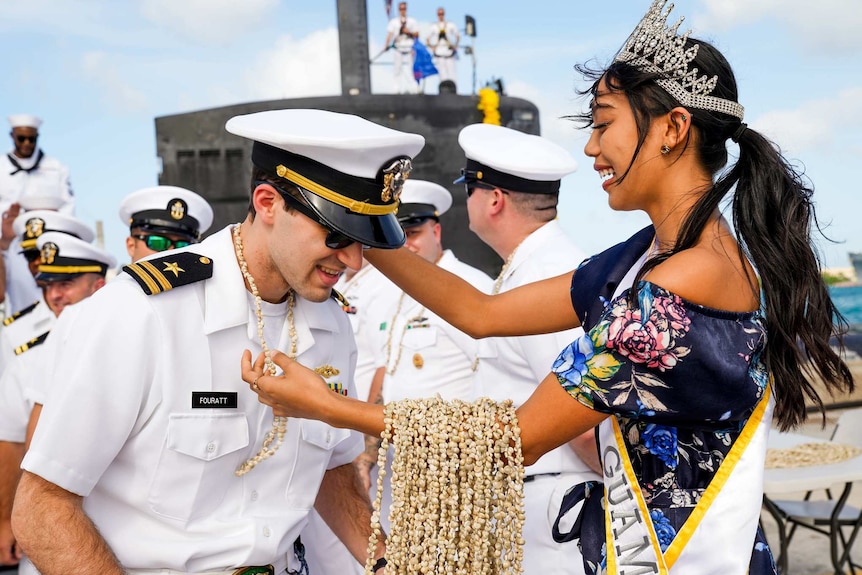
{"type": "Polygon", "coordinates": [[[300,98],[341,93],[338,32],[327,28],[300,39],[281,36],[259,54],[244,81],[253,98],[300,98]]]}

